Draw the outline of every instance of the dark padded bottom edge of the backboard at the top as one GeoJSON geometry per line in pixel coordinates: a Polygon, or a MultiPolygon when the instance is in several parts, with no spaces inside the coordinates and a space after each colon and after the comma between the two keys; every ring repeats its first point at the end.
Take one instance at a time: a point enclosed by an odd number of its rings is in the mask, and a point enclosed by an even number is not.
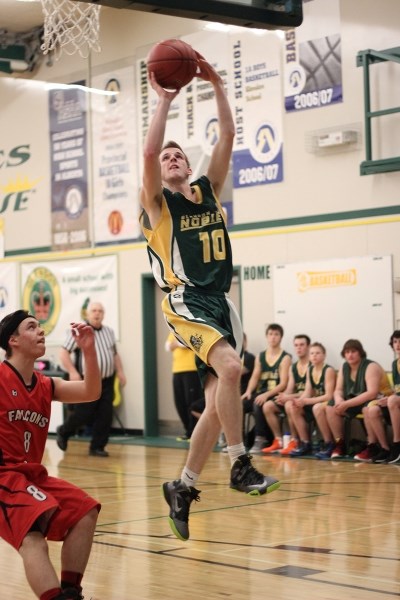
{"type": "Polygon", "coordinates": [[[302,0],[160,0],[158,3],[154,0],[80,1],[257,29],[292,29],[303,21],[302,0]]]}

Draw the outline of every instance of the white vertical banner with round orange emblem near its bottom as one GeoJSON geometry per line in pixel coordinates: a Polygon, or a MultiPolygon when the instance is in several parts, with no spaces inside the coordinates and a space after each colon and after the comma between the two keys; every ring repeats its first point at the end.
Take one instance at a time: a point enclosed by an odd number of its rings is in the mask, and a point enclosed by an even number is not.
{"type": "Polygon", "coordinates": [[[133,67],[93,77],[92,88],[94,240],[101,245],[140,234],[133,67]]]}

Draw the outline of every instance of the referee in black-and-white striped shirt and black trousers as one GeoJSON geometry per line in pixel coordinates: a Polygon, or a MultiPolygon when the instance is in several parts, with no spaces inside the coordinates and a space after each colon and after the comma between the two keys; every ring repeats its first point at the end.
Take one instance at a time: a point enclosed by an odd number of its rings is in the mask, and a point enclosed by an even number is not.
{"type": "MultiPolygon", "coordinates": [[[[63,425],[57,427],[57,445],[66,450],[68,439],[83,425],[92,426],[90,456],[109,456],[105,447],[110,436],[113,419],[114,379],[118,376],[121,386],[126,383],[121,357],[116,348],[114,331],[103,325],[104,307],[100,302],[90,302],[86,321],[93,327],[97,360],[102,378],[101,396],[94,402],[76,404],[63,425]]],[[[85,361],[78,345],[69,333],[60,350],[60,362],[68,372],[70,381],[79,381],[85,373],[85,361]],[[74,355],[74,359],[71,355],[74,355]]]]}

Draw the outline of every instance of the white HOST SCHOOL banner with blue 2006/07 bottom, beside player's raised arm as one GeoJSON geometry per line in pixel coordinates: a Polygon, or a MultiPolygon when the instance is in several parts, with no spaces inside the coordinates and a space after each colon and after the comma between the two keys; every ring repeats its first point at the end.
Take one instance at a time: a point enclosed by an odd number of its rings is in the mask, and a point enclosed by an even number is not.
{"type": "Polygon", "coordinates": [[[274,33],[231,35],[235,188],[283,181],[281,52],[274,33]]]}

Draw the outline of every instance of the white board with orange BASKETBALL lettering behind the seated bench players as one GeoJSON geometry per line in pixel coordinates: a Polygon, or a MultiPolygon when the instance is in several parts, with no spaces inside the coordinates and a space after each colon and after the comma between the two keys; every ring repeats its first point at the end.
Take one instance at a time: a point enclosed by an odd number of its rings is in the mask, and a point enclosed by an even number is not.
{"type": "Polygon", "coordinates": [[[358,339],[368,358],[390,370],[393,352],[393,275],[390,256],[365,256],[273,267],[274,319],[290,351],[305,333],[327,349],[337,368],[346,340],[358,339]]]}

